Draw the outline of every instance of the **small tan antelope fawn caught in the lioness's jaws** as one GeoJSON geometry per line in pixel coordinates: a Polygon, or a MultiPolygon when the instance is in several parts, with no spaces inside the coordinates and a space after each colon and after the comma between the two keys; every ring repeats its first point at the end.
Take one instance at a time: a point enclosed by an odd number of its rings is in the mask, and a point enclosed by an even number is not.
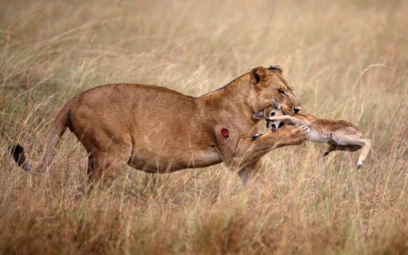
{"type": "MultiPolygon", "coordinates": [[[[308,126],[310,128],[309,141],[330,144],[323,156],[328,155],[333,150],[355,151],[362,148],[357,168],[363,167],[371,142],[368,139],[362,139],[360,130],[352,123],[344,120],[316,118],[312,115],[300,113],[293,114],[293,116],[284,115],[281,105],[276,100],[272,100],[271,106],[263,111],[263,115],[267,121],[266,126],[271,127],[272,132],[275,132],[284,124],[308,126]]],[[[258,139],[261,135],[254,135],[253,139],[258,139]]]]}

